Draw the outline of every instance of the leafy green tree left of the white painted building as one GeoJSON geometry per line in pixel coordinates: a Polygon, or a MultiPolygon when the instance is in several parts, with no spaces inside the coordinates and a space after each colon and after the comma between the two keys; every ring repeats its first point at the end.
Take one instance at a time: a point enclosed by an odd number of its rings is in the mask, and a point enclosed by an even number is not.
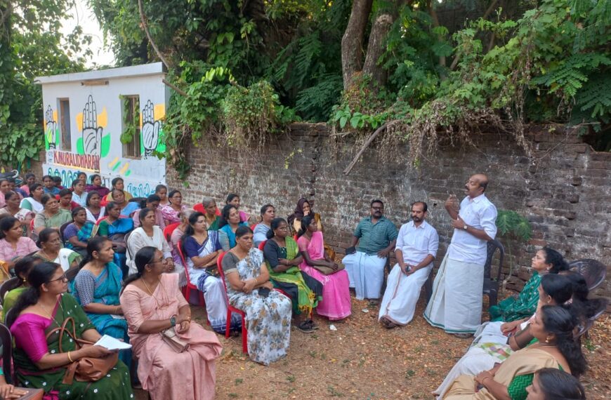
{"type": "Polygon", "coordinates": [[[34,77],[81,70],[90,38],[63,36],[70,0],[0,0],[0,164],[21,168],[44,147],[40,86],[34,77]],[[80,54],[80,58],[77,58],[80,54]],[[74,59],[76,58],[76,61],[74,59]]]}

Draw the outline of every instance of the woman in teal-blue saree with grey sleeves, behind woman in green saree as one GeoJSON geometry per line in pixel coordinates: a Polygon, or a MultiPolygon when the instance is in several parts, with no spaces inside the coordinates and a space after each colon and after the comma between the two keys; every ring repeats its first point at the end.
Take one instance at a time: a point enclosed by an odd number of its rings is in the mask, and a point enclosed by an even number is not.
{"type": "MultiPolygon", "coordinates": [[[[127,322],[119,302],[121,269],[113,260],[112,242],[96,236],[87,244],[87,255],[72,286],[72,295],[83,307],[96,331],[129,342],[127,322]]],[[[121,352],[121,361],[129,366],[131,352],[121,352]]]]}

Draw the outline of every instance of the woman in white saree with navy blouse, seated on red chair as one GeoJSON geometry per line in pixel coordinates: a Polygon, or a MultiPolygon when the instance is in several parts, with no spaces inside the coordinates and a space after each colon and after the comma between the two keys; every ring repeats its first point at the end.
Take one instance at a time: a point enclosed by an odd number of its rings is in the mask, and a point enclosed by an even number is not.
{"type": "MultiPolygon", "coordinates": [[[[227,326],[227,299],[223,282],[213,274],[216,269],[216,259],[223,253],[218,241],[218,231],[208,230],[206,218],[202,213],[192,213],[189,226],[182,239],[183,254],[189,271],[191,284],[204,293],[206,313],[212,329],[225,333],[227,326]]],[[[230,328],[235,331],[240,328],[242,319],[238,314],[231,315],[230,328]]]]}

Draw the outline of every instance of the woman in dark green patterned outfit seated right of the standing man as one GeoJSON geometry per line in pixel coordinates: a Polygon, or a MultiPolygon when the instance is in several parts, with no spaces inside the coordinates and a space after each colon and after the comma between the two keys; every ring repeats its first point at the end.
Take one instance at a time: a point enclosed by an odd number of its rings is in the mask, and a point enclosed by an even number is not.
{"type": "Polygon", "coordinates": [[[526,282],[518,298],[509,297],[501,300],[498,305],[490,307],[490,321],[515,321],[530,317],[537,309],[539,302],[539,284],[541,276],[545,274],[558,274],[566,271],[569,265],[563,256],[553,248],[544,247],[532,258],[532,276],[526,282]]]}

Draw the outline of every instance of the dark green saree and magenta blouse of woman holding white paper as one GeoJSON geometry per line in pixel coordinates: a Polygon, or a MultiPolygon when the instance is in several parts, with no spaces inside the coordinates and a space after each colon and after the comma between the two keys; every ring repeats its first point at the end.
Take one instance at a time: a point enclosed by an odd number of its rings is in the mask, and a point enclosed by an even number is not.
{"type": "MultiPolygon", "coordinates": [[[[77,338],[81,338],[84,331],[95,329],[77,300],[68,294],[60,296],[58,305],[55,306],[53,319],[28,313],[20,315],[15,320],[11,326],[11,332],[15,338],[13,361],[15,375],[20,385],[43,389],[44,399],[49,400],[133,399],[129,371],[121,361],[118,361],[105,377],[96,382],[81,382],[74,379],[70,385],[62,382],[67,366],[41,370],[34,364],[32,359],[39,360],[46,352],[60,353],[60,334],[57,328],[60,328],[68,318],[74,319],[77,338]]],[[[71,325],[71,322],[67,324],[68,331],[72,331],[71,325]]],[[[72,352],[77,349],[77,344],[70,338],[70,335],[62,335],[61,340],[63,352],[72,352]]]]}

